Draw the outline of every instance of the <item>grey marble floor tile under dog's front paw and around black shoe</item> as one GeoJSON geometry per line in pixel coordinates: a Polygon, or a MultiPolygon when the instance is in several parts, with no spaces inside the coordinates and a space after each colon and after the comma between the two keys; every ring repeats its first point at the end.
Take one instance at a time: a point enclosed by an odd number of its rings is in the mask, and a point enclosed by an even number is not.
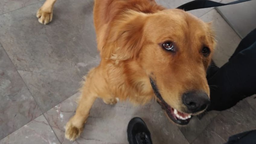
{"type": "Polygon", "coordinates": [[[178,127],[165,116],[161,107],[154,101],[141,107],[133,107],[129,102],[118,102],[107,105],[97,99],[85,124],[85,130],[75,142],[64,138],[64,126],[76,109],[75,99],[78,93],[53,107],[45,113],[54,132],[62,144],[128,144],[126,129],[133,117],[141,117],[151,131],[152,140],[156,144],[188,144],[178,127]]]}

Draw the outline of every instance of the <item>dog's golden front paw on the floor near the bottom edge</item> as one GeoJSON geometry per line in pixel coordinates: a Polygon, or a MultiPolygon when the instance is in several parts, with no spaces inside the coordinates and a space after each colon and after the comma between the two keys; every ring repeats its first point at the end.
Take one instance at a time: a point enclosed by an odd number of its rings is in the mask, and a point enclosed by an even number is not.
{"type": "Polygon", "coordinates": [[[74,125],[72,125],[71,121],[69,121],[67,124],[66,124],[66,131],[65,131],[65,137],[66,139],[70,140],[70,141],[74,141],[75,139],[78,138],[78,136],[80,136],[80,134],[82,133],[83,131],[83,126],[81,128],[78,128],[74,125]]]}

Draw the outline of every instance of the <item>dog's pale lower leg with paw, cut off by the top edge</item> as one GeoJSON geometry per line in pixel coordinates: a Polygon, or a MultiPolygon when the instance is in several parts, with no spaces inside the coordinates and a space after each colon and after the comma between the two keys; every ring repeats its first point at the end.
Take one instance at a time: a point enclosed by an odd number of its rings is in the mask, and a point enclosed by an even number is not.
{"type": "Polygon", "coordinates": [[[37,18],[41,24],[48,24],[53,19],[53,5],[56,0],[46,0],[37,11],[37,18]]]}

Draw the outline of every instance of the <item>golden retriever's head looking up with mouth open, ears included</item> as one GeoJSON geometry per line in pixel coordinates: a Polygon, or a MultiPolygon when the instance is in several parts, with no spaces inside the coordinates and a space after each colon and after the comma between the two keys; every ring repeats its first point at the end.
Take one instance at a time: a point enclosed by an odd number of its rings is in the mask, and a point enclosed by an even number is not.
{"type": "Polygon", "coordinates": [[[184,125],[210,103],[206,70],[215,40],[211,26],[178,9],[130,11],[118,25],[117,59],[136,59],[169,118],[184,125]]]}

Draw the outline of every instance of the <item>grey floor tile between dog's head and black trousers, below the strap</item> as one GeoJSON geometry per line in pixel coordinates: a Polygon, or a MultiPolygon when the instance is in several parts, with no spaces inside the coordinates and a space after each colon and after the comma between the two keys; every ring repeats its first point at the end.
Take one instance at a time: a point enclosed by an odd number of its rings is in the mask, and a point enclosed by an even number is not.
{"type": "Polygon", "coordinates": [[[215,38],[217,40],[213,60],[217,66],[222,66],[228,62],[229,57],[234,53],[236,47],[241,41],[241,38],[215,9],[203,15],[200,19],[205,22],[212,21],[213,30],[216,35],[215,38]]]}

